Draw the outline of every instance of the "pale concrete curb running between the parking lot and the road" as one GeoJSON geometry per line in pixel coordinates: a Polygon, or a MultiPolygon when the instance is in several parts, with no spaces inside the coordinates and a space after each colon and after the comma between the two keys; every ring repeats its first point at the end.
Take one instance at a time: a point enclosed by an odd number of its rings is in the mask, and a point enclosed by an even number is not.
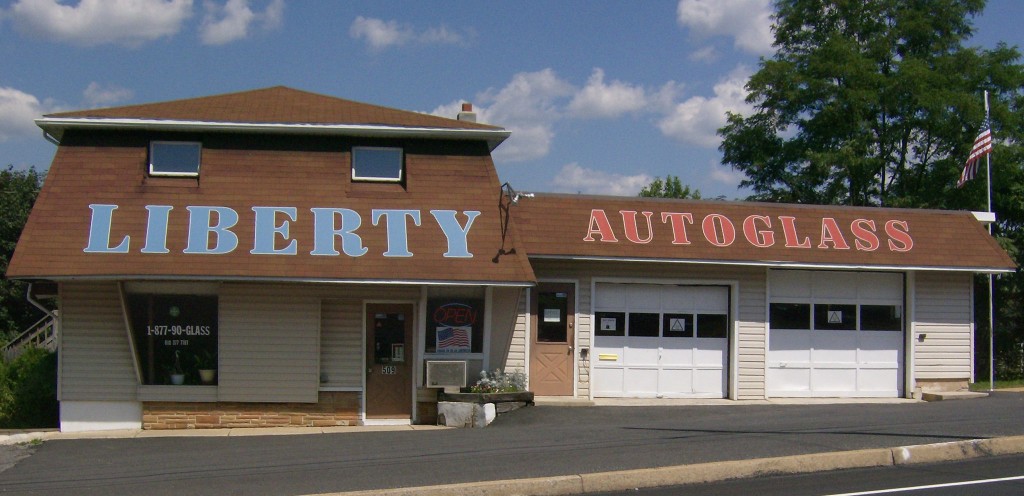
{"type": "Polygon", "coordinates": [[[563,495],[639,488],[700,484],[758,476],[808,473],[839,470],[955,461],[982,456],[1024,453],[1024,436],[985,440],[956,441],[898,448],[815,453],[776,458],[733,460],[659,468],[640,468],[597,473],[579,473],[536,479],[484,481],[414,488],[374,489],[316,496],[468,496],[563,495]]]}

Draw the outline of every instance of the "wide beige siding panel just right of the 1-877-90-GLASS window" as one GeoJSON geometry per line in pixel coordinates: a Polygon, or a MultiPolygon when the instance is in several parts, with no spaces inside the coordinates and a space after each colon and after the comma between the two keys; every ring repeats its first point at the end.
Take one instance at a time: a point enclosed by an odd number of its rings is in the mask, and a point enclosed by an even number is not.
{"type": "Polygon", "coordinates": [[[316,402],[318,298],[300,287],[225,284],[219,311],[221,401],[316,402]]]}

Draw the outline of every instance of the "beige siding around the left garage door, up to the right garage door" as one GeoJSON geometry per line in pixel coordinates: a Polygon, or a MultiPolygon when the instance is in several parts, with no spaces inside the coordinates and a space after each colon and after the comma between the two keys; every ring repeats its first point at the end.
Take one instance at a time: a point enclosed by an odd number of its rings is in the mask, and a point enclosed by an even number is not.
{"type": "MultiPolygon", "coordinates": [[[[568,262],[564,260],[534,260],[534,271],[541,280],[578,281],[577,294],[579,322],[577,343],[579,347],[591,345],[591,283],[594,278],[622,278],[642,280],[716,280],[736,281],[739,287],[738,316],[735,316],[737,332],[735,336],[738,355],[735,396],[738,400],[760,400],[765,398],[765,277],[761,267],[698,265],[685,263],[625,263],[625,262],[568,262]]],[[[736,298],[737,295],[732,295],[736,298]]],[[[525,314],[525,309],[523,312],[525,314]]],[[[581,361],[578,367],[580,382],[578,394],[590,396],[589,361],[581,361]]],[[[730,366],[731,368],[731,366],[730,366]]]]}

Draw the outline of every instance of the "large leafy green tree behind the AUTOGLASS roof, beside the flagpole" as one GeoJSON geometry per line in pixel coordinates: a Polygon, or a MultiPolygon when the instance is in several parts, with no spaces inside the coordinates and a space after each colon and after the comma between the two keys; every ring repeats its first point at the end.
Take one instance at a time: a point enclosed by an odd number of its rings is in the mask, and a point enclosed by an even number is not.
{"type": "MultiPolygon", "coordinates": [[[[754,112],[730,114],[719,129],[723,162],[745,175],[753,200],[984,210],[985,172],[955,184],[987,90],[994,234],[1024,262],[1024,66],[1016,46],[965,46],[984,6],[777,0],[776,51],[748,84],[754,112]]],[[[988,291],[978,280],[983,343],[988,291]]],[[[996,336],[1021,342],[1024,276],[1000,276],[996,290],[996,336]]],[[[987,346],[978,352],[981,372],[987,346]]]]}

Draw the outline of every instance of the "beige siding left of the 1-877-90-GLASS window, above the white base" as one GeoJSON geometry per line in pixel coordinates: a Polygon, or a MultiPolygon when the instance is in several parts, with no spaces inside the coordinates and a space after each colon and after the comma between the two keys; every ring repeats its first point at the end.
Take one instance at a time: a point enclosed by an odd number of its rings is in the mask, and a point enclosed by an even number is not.
{"type": "Polygon", "coordinates": [[[61,401],[136,400],[117,283],[60,285],[59,358],[61,401]]]}

